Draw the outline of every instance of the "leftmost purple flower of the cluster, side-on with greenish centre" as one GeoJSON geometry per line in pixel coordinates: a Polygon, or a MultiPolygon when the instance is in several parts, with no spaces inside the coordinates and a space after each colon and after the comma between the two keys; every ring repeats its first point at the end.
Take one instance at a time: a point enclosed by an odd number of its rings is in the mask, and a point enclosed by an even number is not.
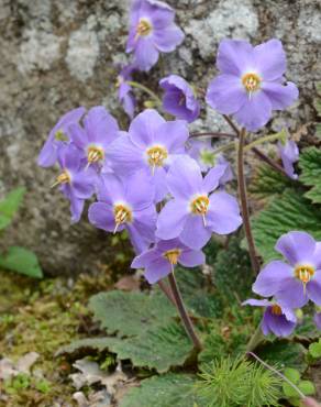
{"type": "Polygon", "coordinates": [[[57,148],[59,145],[69,143],[69,127],[73,123],[78,123],[85,114],[85,108],[77,108],[64,114],[57,124],[49,132],[42,151],[40,152],[37,164],[41,167],[51,167],[57,161],[57,148]]]}

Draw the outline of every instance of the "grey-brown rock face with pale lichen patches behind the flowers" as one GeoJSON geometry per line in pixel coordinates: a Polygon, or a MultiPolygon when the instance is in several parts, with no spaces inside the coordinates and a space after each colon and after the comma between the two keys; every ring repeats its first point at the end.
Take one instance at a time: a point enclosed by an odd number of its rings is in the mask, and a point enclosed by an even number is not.
{"type": "MultiPolygon", "coordinates": [[[[313,82],[321,79],[318,0],[168,3],[177,10],[185,42],[141,80],[156,88],[163,73],[173,72],[206,87],[222,37],[259,43],[276,36],[285,44],[287,77],[298,84],[300,101],[275,127],[286,120],[296,130],[313,120],[313,82]]],[[[5,243],[35,250],[51,274],[92,271],[114,255],[86,216],[70,227],[68,202],[48,188],[55,170],[38,168],[35,158],[59,116],[79,105],[104,105],[126,127],[114,81],[117,64],[126,61],[128,9],[125,0],[0,0],[0,196],[16,186],[27,188],[5,243]]],[[[223,124],[208,108],[198,125],[223,124]]]]}

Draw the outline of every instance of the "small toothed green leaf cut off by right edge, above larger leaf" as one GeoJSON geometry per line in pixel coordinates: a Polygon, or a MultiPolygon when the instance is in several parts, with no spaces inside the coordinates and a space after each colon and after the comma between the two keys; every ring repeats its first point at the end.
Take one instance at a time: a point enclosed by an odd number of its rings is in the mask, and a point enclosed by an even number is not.
{"type": "Polygon", "coordinates": [[[306,197],[314,204],[321,204],[321,150],[317,147],[306,148],[300,155],[299,162],[302,170],[300,180],[312,188],[306,193],[306,197]]]}

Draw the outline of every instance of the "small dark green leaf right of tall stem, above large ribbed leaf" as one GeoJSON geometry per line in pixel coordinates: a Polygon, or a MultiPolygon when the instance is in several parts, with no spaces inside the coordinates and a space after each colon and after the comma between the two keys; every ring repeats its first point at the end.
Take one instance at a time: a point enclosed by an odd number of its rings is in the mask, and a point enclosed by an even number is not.
{"type": "Polygon", "coordinates": [[[270,166],[262,164],[257,167],[248,185],[248,191],[256,199],[269,199],[275,195],[281,195],[286,188],[295,185],[295,182],[290,178],[270,166]]]}

